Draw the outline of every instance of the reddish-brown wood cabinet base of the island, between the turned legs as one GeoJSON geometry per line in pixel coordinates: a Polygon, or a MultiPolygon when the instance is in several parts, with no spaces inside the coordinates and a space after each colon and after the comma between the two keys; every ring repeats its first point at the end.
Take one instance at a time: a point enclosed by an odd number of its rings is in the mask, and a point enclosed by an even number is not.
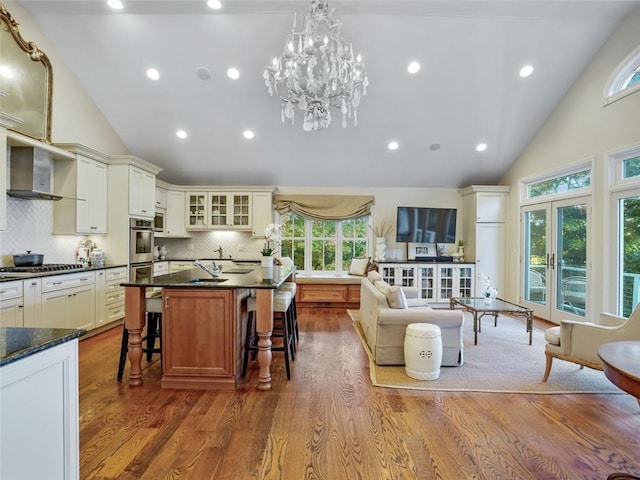
{"type": "Polygon", "coordinates": [[[163,388],[235,389],[234,298],[234,290],[163,290],[163,388]]]}

